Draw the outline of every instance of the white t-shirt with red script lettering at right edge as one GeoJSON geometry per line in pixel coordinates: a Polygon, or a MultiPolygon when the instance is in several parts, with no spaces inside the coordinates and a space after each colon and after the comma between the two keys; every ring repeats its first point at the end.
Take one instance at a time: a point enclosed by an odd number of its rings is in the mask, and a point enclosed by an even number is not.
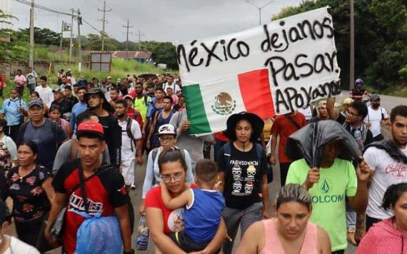
{"type": "MultiPolygon", "coordinates": [[[[407,148],[400,150],[407,156],[407,148]]],[[[393,216],[391,212],[381,208],[383,195],[392,184],[407,182],[407,165],[398,163],[386,151],[376,147],[368,148],[363,154],[363,158],[374,171],[369,188],[366,215],[381,220],[390,218],[393,216]]]]}

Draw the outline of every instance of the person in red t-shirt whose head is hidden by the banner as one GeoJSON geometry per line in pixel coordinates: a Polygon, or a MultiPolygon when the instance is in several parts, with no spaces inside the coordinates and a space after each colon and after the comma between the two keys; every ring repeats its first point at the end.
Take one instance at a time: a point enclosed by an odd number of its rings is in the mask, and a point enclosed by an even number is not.
{"type": "Polygon", "coordinates": [[[306,119],[304,115],[298,111],[293,111],[291,113],[276,116],[276,120],[271,128],[271,165],[276,164],[275,151],[277,137],[280,137],[280,142],[278,143],[278,162],[280,163],[281,186],[286,185],[288,168],[291,164],[290,159],[285,153],[287,138],[292,133],[298,131],[300,128],[303,128],[303,126],[306,126],[306,119]]]}

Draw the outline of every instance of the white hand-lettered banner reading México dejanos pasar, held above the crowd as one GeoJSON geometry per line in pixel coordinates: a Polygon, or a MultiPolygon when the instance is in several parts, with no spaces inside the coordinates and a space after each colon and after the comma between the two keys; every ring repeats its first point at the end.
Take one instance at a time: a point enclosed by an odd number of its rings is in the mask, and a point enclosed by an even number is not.
{"type": "MultiPolygon", "coordinates": [[[[265,94],[257,91],[264,86],[253,82],[253,89],[248,89],[246,84],[251,76],[245,80],[239,76],[242,73],[263,75],[261,70],[268,70],[272,106],[268,110],[270,114],[260,114],[263,118],[341,93],[341,69],[336,61],[333,21],[328,7],[235,34],[189,41],[177,45],[176,50],[183,86],[199,85],[206,116],[213,121],[221,121],[245,108],[256,113],[246,97],[268,101],[265,94]],[[241,98],[237,99],[238,96],[241,98]],[[231,106],[226,107],[224,100],[231,106]]],[[[186,94],[188,109],[192,99],[186,94]]],[[[211,130],[223,127],[211,126],[211,130]]]]}

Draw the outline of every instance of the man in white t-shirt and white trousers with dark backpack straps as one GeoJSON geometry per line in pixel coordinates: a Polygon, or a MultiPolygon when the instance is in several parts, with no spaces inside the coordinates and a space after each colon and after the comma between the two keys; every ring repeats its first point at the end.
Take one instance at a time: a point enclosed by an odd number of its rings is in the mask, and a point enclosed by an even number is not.
{"type": "Polygon", "coordinates": [[[127,102],[123,99],[116,101],[116,116],[121,127],[121,175],[124,177],[126,190],[134,183],[134,161],[143,165],[143,139],[140,125],[126,114],[127,102]]]}

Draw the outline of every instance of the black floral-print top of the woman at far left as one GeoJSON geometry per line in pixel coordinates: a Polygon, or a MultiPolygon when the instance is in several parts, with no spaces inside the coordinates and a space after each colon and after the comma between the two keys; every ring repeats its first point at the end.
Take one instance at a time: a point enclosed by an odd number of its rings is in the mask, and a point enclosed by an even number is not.
{"type": "Polygon", "coordinates": [[[19,176],[19,167],[7,174],[7,195],[13,199],[14,220],[25,221],[40,218],[49,210],[49,201],[42,184],[51,173],[36,166],[27,176],[19,176]]]}

